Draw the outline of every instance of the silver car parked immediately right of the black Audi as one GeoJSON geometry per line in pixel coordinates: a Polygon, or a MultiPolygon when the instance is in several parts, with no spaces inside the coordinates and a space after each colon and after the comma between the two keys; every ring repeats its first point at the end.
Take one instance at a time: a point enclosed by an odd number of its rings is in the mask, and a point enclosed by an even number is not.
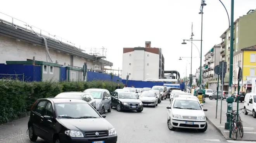
{"type": "Polygon", "coordinates": [[[152,91],[144,91],[140,94],[140,97],[138,98],[140,101],[142,101],[143,106],[153,106],[156,107],[158,105],[158,97],[156,93],[152,91]]]}

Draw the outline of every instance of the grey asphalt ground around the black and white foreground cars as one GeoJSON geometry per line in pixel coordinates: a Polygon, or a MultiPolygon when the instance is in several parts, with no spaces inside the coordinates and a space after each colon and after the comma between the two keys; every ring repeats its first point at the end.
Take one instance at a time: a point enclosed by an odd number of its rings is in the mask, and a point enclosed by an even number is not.
{"type": "MultiPolygon", "coordinates": [[[[169,100],[162,101],[156,108],[145,107],[141,113],[117,112],[112,109],[106,119],[116,128],[118,143],[228,143],[216,129],[208,123],[208,130],[179,129],[170,131],[167,127],[169,100]]],[[[22,118],[0,125],[0,143],[30,143],[26,136],[29,118],[22,118]]],[[[36,143],[45,143],[38,139],[36,143]]],[[[240,143],[235,141],[232,143],[240,143]]],[[[247,143],[247,142],[241,142],[247,143]]],[[[248,142],[251,143],[251,142],[248,142]]],[[[255,143],[255,142],[254,142],[255,143]]]]}

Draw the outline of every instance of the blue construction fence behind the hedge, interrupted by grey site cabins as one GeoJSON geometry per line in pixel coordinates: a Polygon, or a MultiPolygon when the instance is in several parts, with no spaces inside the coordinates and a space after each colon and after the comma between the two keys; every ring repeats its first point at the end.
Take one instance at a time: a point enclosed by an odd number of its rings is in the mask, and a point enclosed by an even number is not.
{"type": "MultiPolygon", "coordinates": [[[[60,67],[61,79],[66,80],[66,67],[60,67]]],[[[41,67],[22,64],[0,64],[0,79],[19,79],[21,81],[41,81],[41,67]]],[[[49,79],[50,80],[50,79],[49,79]]],[[[122,82],[118,76],[87,71],[87,81],[104,80],[122,82]]]]}

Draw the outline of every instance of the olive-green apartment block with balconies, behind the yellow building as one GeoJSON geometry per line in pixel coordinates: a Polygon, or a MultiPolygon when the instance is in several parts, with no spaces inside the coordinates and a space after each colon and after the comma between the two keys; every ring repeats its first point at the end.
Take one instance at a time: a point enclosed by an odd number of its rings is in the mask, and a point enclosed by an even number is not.
{"type": "MultiPolygon", "coordinates": [[[[249,10],[246,15],[239,17],[234,22],[234,50],[237,52],[246,47],[256,45],[256,10],[249,10]]],[[[224,78],[224,90],[228,90],[229,82],[229,63],[230,63],[230,28],[228,28],[221,36],[221,52],[220,60],[227,62],[227,73],[224,78]]],[[[240,53],[241,54],[241,53],[240,53]]],[[[237,58],[241,59],[241,55],[237,53],[237,58]]],[[[235,64],[235,61],[233,61],[235,64]]],[[[233,68],[233,73],[235,69],[233,68]]],[[[234,78],[234,76],[233,76],[234,78]]],[[[247,80],[246,80],[247,81],[247,80]]],[[[235,88],[233,88],[235,89],[235,88]]]]}

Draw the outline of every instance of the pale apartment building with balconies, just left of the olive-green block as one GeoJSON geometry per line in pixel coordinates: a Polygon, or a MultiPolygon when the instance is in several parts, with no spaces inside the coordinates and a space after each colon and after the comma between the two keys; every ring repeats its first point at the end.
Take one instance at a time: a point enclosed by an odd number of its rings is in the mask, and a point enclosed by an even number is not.
{"type": "Polygon", "coordinates": [[[204,55],[204,69],[202,70],[203,84],[208,82],[208,89],[217,89],[218,75],[214,73],[214,67],[220,63],[221,44],[214,45],[209,52],[204,55]]]}

